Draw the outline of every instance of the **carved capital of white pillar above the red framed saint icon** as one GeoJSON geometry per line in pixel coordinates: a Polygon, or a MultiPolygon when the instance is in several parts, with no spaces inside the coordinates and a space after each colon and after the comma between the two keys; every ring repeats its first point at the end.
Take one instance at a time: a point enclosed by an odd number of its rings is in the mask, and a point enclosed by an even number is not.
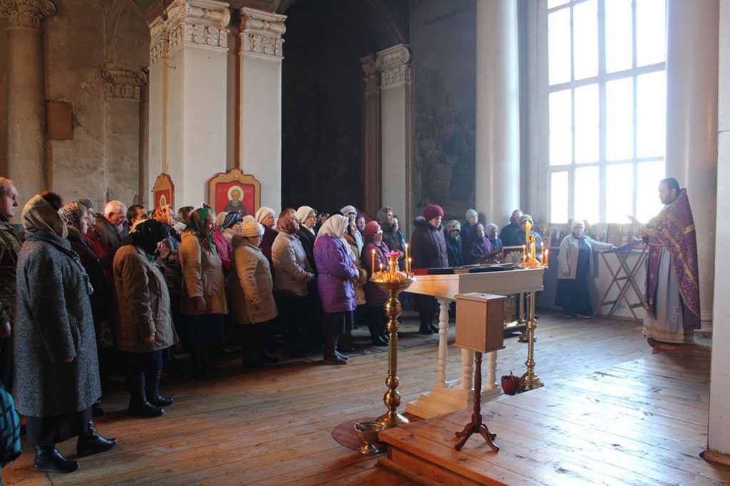
{"type": "Polygon", "coordinates": [[[241,52],[283,58],[286,15],[243,7],[241,9],[241,52]]]}

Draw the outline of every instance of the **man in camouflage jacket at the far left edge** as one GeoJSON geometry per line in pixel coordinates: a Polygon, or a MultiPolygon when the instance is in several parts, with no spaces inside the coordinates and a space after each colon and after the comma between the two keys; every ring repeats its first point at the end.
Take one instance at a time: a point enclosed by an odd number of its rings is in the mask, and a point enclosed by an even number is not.
{"type": "Polygon", "coordinates": [[[10,226],[18,207],[18,189],[10,179],[0,177],[0,380],[12,390],[12,327],[15,309],[15,264],[20,240],[10,226]]]}

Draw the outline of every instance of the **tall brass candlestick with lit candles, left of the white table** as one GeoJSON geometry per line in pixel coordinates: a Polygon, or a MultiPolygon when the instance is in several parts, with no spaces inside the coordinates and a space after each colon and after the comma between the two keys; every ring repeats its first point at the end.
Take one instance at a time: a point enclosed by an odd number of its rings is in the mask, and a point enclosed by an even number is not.
{"type": "Polygon", "coordinates": [[[401,272],[398,269],[398,253],[388,254],[388,264],[390,270],[387,272],[377,272],[372,275],[370,281],[377,285],[377,288],[388,292],[388,302],[385,302],[385,315],[388,316],[388,324],[385,329],[388,331],[388,377],[385,379],[385,385],[388,385],[388,391],[383,396],[383,402],[388,412],[380,415],[375,421],[385,428],[402,426],[408,423],[408,419],[398,412],[398,406],[401,404],[401,396],[398,393],[399,380],[398,372],[398,329],[400,324],[398,316],[401,315],[403,307],[398,300],[398,294],[404,291],[410,284],[415,281],[413,274],[410,272],[401,272]]]}

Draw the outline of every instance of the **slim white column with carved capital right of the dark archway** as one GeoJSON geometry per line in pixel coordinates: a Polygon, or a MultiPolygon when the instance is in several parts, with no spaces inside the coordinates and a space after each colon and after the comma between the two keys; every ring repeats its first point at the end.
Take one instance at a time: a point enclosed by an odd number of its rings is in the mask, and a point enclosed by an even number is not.
{"type": "Polygon", "coordinates": [[[411,54],[398,44],[377,53],[380,71],[380,160],[382,204],[393,208],[401,230],[410,235],[411,197],[411,54]]]}

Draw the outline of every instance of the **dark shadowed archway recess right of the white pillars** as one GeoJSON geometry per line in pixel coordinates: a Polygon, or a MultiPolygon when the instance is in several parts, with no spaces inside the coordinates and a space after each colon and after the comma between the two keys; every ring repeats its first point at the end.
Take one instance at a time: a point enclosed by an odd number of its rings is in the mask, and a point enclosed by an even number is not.
{"type": "Polygon", "coordinates": [[[408,1],[295,0],[282,72],[282,205],[362,205],[360,58],[408,42],[408,1]]]}

